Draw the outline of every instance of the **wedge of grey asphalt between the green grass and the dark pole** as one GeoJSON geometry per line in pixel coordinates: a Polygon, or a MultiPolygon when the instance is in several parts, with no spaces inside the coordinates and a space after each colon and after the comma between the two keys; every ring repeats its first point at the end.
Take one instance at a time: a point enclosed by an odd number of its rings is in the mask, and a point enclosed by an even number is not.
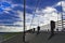
{"type": "Polygon", "coordinates": [[[14,38],[9,39],[8,41],[3,41],[2,43],[22,43],[23,34],[15,35],[14,38]]]}

